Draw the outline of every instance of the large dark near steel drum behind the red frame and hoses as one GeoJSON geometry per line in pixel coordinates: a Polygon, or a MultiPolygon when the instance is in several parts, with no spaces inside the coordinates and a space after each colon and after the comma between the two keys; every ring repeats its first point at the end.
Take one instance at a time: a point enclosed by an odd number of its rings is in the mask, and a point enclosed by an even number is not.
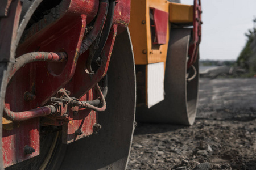
{"type": "MultiPolygon", "coordinates": [[[[135,116],[135,66],[127,29],[115,40],[108,70],[107,109],[98,113],[98,134],[67,146],[59,169],[125,169],[135,116]]],[[[55,160],[58,161],[58,160],[55,160]]]]}

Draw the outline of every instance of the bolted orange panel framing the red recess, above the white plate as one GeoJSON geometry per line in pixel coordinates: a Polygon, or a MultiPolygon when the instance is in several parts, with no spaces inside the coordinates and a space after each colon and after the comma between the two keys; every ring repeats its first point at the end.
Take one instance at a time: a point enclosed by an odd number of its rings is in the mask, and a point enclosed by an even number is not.
{"type": "Polygon", "coordinates": [[[166,44],[159,48],[152,46],[150,7],[169,12],[169,2],[165,0],[131,0],[129,29],[137,65],[166,62],[170,25],[167,23],[166,44]]]}

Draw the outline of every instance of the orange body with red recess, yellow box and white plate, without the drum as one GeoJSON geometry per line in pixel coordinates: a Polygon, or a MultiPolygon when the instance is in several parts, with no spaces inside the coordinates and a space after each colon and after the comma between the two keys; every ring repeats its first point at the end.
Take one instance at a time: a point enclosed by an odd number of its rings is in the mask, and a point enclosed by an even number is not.
{"type": "Polygon", "coordinates": [[[129,29],[135,65],[137,68],[141,67],[137,69],[140,70],[137,71],[137,82],[143,84],[143,86],[137,85],[137,94],[143,96],[142,100],[137,100],[137,105],[146,104],[147,107],[151,107],[164,99],[164,70],[172,23],[193,25],[193,6],[165,0],[131,1],[129,29]],[[160,67],[153,66],[155,63],[159,63],[160,67]],[[152,71],[150,67],[155,69],[152,71]],[[152,76],[155,77],[152,78],[152,76]],[[162,78],[159,79],[159,76],[162,78]],[[154,82],[161,83],[151,88],[150,86],[154,82]],[[158,92],[156,92],[157,90],[158,92]],[[155,94],[150,94],[153,91],[155,94]],[[159,94],[161,95],[159,96],[159,94]],[[149,100],[154,100],[157,97],[159,99],[150,104],[149,100]]]}

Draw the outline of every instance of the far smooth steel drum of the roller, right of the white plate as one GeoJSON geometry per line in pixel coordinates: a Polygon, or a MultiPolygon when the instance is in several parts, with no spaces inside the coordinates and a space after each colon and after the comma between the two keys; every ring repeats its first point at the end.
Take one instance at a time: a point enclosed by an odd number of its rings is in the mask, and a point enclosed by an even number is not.
{"type": "Polygon", "coordinates": [[[166,72],[164,100],[150,109],[137,108],[137,119],[142,122],[192,125],[196,117],[199,87],[198,58],[193,64],[196,76],[187,81],[188,46],[191,29],[171,29],[166,72]]]}

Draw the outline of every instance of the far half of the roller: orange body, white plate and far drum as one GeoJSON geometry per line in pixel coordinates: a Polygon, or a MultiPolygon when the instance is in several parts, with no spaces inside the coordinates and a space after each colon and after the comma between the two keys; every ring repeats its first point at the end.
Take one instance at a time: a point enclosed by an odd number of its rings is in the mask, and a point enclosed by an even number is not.
{"type": "Polygon", "coordinates": [[[199,87],[201,2],[131,1],[137,121],[192,125],[199,87]]]}

